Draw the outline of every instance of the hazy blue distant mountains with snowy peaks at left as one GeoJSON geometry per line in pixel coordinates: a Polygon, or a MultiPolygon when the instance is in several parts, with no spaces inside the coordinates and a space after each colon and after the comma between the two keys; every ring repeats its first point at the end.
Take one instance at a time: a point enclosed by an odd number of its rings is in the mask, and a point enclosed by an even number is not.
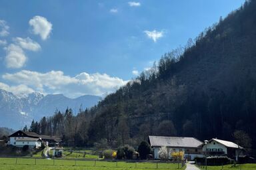
{"type": "Polygon", "coordinates": [[[0,89],[0,127],[21,129],[31,120],[43,116],[52,116],[56,110],[65,112],[67,107],[76,113],[80,108],[90,108],[101,100],[99,96],[85,95],[71,99],[63,94],[31,93],[27,96],[16,96],[0,89]]]}

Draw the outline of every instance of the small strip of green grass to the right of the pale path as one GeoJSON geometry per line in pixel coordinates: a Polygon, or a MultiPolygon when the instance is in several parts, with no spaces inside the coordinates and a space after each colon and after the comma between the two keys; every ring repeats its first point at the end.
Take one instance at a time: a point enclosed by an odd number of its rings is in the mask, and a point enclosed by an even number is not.
{"type": "MultiPolygon", "coordinates": [[[[200,167],[200,169],[204,169],[203,167],[200,167]]],[[[235,167],[232,167],[232,165],[223,165],[222,166],[207,166],[207,170],[256,170],[256,164],[255,163],[246,163],[246,164],[237,164],[235,167]]]]}

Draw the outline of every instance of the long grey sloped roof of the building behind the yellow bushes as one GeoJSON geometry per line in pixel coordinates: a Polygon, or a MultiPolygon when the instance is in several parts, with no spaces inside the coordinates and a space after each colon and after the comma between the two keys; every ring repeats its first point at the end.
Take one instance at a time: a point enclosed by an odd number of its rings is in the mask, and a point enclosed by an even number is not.
{"type": "Polygon", "coordinates": [[[167,147],[199,147],[203,142],[194,137],[167,137],[149,135],[151,146],[167,147]]]}

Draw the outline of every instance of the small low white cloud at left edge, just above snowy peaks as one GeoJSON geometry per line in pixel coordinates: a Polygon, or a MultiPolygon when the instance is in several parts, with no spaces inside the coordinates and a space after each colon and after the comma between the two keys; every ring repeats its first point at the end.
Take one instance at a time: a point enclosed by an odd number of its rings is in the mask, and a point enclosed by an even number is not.
{"type": "Polygon", "coordinates": [[[12,92],[13,94],[29,94],[35,92],[32,88],[27,87],[24,84],[20,84],[18,86],[9,86],[0,82],[0,89],[6,90],[8,92],[12,92]]]}

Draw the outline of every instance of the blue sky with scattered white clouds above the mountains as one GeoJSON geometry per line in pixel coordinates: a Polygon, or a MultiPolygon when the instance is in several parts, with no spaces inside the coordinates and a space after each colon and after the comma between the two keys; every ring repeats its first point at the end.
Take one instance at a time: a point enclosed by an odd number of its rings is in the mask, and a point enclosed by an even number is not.
{"type": "Polygon", "coordinates": [[[244,0],[0,1],[0,89],[115,92],[244,0]]]}

